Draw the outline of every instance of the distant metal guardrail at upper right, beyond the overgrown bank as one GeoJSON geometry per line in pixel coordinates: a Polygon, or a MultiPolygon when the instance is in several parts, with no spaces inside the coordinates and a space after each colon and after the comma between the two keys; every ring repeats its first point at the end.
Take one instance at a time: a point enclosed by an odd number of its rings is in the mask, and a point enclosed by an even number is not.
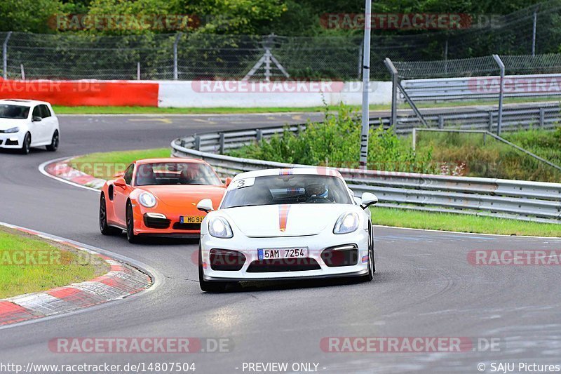
{"type": "MultiPolygon", "coordinates": [[[[499,96],[500,77],[405,79],[401,84],[414,101],[496,99],[499,96]]],[[[504,96],[559,96],[560,85],[561,74],[507,75],[504,79],[504,96]]]]}

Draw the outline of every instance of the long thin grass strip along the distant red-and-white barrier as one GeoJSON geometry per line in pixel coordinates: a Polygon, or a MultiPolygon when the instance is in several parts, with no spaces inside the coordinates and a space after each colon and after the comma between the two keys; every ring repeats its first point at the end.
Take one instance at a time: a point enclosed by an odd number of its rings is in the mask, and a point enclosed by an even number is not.
{"type": "MultiPolygon", "coordinates": [[[[556,98],[505,98],[504,102],[536,102],[536,101],[559,101],[556,98]]],[[[468,105],[497,105],[497,100],[468,100],[451,102],[417,102],[419,108],[433,107],[461,107],[468,105]]],[[[327,107],[327,110],[337,110],[337,105],[327,107]]],[[[158,107],[67,107],[54,105],[57,114],[245,114],[245,113],[283,113],[283,112],[323,112],[324,106],[318,107],[259,107],[259,108],[238,108],[238,107],[214,107],[214,108],[158,108],[158,107]]],[[[353,109],[360,109],[360,106],[351,106],[353,109]]],[[[370,110],[388,110],[389,104],[370,105],[370,110]]],[[[400,109],[409,109],[407,103],[399,105],[400,109]]]]}

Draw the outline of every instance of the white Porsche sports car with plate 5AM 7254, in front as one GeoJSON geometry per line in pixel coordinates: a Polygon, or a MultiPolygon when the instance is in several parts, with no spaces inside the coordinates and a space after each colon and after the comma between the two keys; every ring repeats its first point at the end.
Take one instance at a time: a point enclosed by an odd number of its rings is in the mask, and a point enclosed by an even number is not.
{"type": "Polygon", "coordinates": [[[374,274],[370,209],[374,194],[355,199],[341,174],[326,168],[236,175],[219,208],[203,199],[198,274],[201,289],[236,281],[374,274]]]}

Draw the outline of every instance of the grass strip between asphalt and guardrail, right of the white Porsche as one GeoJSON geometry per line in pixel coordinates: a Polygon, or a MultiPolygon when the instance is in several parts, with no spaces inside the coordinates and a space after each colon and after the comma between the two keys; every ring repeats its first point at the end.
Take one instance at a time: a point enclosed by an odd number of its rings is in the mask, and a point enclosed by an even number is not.
{"type": "Polygon", "coordinates": [[[478,234],[561,236],[561,225],[482,217],[456,213],[433,213],[406,209],[372,209],[375,225],[433,229],[478,234]]]}

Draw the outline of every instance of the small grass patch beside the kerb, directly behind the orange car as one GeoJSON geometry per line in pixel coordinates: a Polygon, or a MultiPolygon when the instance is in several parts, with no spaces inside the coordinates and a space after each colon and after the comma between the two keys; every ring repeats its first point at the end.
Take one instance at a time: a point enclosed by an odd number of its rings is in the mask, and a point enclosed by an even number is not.
{"type": "Polygon", "coordinates": [[[136,151],[99,152],[76,157],[71,166],[95,178],[109,180],[115,173],[125,170],[129,163],[139,159],[169,157],[169,148],[142,149],[136,151]]]}

